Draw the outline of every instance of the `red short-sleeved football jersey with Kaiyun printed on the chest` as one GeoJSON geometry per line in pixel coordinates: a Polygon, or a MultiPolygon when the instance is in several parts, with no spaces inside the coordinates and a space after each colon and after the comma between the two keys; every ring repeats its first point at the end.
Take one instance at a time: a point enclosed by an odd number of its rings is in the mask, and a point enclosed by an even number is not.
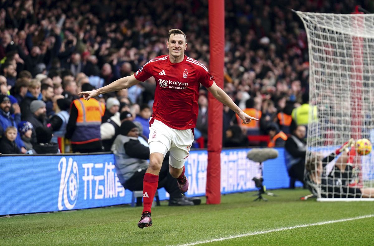
{"type": "Polygon", "coordinates": [[[171,63],[168,55],[158,56],[134,76],[143,82],[152,76],[156,79],[152,119],[178,130],[196,126],[200,84],[211,87],[214,81],[203,64],[186,55],[178,63],[171,63]]]}

